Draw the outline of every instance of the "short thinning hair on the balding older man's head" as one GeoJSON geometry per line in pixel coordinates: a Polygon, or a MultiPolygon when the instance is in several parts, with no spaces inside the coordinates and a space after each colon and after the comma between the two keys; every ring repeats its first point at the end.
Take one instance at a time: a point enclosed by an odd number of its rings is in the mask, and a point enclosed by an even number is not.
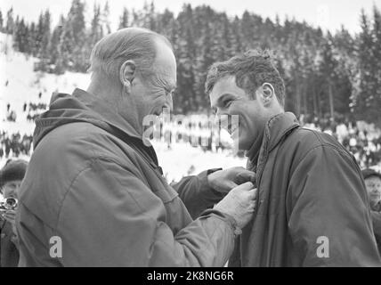
{"type": "Polygon", "coordinates": [[[156,58],[156,39],[163,40],[172,49],[166,37],[147,28],[122,28],[102,37],[93,47],[89,71],[118,77],[122,64],[134,61],[136,71],[147,79],[153,75],[151,67],[156,58]]]}

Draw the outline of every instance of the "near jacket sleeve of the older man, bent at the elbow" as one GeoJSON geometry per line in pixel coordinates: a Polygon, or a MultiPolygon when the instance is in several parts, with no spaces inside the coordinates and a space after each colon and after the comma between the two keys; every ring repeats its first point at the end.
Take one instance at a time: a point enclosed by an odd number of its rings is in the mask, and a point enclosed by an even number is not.
{"type": "Polygon", "coordinates": [[[223,266],[233,249],[231,218],[217,211],[191,221],[166,211],[135,169],[94,159],[70,186],[57,235],[66,266],[223,266]],[[171,229],[166,221],[188,221],[171,229]]]}

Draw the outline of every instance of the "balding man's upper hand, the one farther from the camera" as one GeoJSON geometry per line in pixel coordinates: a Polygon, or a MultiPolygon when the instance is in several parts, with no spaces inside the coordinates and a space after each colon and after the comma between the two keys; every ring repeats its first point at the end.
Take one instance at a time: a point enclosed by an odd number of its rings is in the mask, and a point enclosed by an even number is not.
{"type": "Polygon", "coordinates": [[[226,193],[242,183],[255,183],[255,173],[244,167],[231,167],[207,175],[207,183],[215,191],[226,193]]]}

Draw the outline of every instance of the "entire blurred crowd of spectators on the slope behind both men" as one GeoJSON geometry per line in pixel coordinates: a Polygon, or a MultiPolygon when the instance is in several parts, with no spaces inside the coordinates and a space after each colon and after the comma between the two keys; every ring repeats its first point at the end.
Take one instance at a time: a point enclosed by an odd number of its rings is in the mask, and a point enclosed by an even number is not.
{"type": "MultiPolygon", "coordinates": [[[[27,120],[32,123],[46,108],[45,103],[29,102],[27,104],[25,102],[23,111],[28,112],[27,120]]],[[[7,120],[15,121],[17,114],[10,110],[10,104],[7,105],[7,111],[7,120]]],[[[348,151],[353,153],[361,168],[381,164],[381,131],[379,129],[369,130],[369,127],[361,126],[360,122],[340,115],[337,115],[335,120],[330,119],[329,116],[317,118],[301,115],[299,122],[301,126],[334,136],[348,151]]],[[[232,149],[230,135],[225,130],[215,127],[213,120],[202,115],[191,115],[183,117],[182,120],[170,120],[165,124],[161,122],[150,138],[166,142],[168,149],[172,147],[173,143],[178,142],[189,143],[203,151],[218,152],[232,149]]],[[[18,157],[20,153],[29,155],[32,137],[24,134],[21,138],[20,133],[3,132],[0,142],[0,159],[3,156],[8,158],[11,151],[14,157],[18,157]]],[[[244,153],[238,151],[234,155],[243,157],[244,153]]]]}

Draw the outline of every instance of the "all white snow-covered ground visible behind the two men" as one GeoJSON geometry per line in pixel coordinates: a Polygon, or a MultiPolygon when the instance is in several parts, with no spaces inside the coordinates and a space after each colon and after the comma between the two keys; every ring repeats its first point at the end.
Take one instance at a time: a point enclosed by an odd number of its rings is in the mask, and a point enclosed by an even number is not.
{"type": "MultiPolygon", "coordinates": [[[[35,62],[35,58],[27,58],[23,53],[14,52],[12,38],[0,34],[0,132],[6,131],[12,134],[19,131],[21,136],[33,134],[35,126],[28,122],[28,112],[23,112],[25,102],[48,104],[53,92],[70,94],[74,88],[85,89],[90,83],[89,74],[66,72],[64,75],[56,76],[34,72],[35,62]],[[40,92],[41,99],[38,98],[40,92]],[[14,110],[18,116],[15,122],[5,120],[8,103],[11,105],[10,110],[14,110]]],[[[246,159],[233,157],[229,151],[204,152],[185,143],[172,144],[172,148],[168,150],[165,142],[152,141],[152,144],[169,182],[208,168],[246,165],[246,159]]],[[[20,158],[28,160],[25,156],[20,158]]],[[[5,159],[0,160],[0,167],[3,167],[4,163],[5,159]]]]}

